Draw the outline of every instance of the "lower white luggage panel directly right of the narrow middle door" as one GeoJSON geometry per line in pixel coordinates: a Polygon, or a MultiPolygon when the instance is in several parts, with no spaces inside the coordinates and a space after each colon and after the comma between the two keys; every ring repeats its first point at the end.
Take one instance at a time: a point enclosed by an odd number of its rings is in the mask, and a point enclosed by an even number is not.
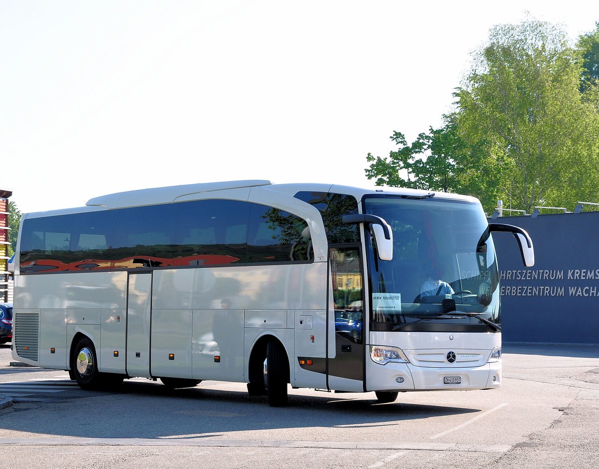
{"type": "Polygon", "coordinates": [[[192,377],[191,310],[152,310],[152,376],[192,377]]]}

